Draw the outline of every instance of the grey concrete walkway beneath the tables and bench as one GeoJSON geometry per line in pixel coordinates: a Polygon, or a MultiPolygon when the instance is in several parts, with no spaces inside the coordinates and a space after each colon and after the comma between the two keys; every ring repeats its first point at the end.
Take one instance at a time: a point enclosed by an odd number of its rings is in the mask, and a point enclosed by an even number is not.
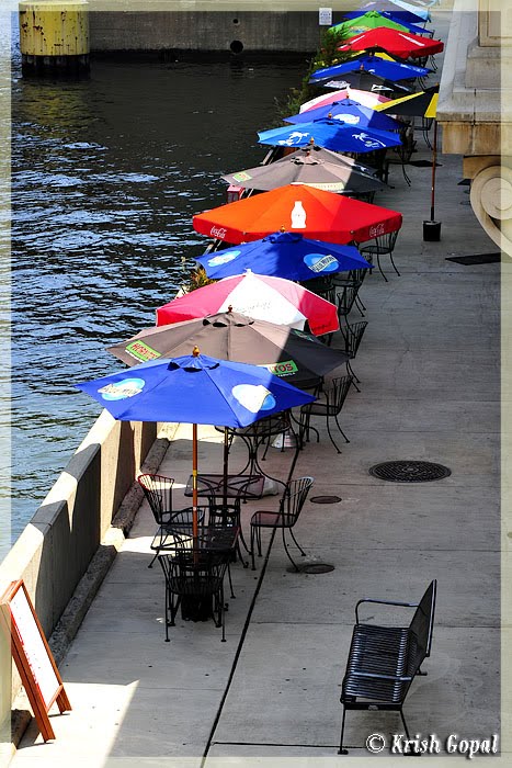
{"type": "MultiPolygon", "coordinates": [[[[420,140],[414,158],[429,157],[420,140]]],[[[351,391],[342,413],[350,444],[338,455],[320,427],[320,443],[308,444],[296,467],[296,476],[315,477],[312,497],[341,497],[309,501],[297,526],[310,557],[334,571],[289,573],[276,539],[257,572],[232,567],[237,597],[229,600],[226,643],[212,621],[181,619],[164,643],[163,577],[157,564],[147,567],[155,522],[144,505],[61,666],[73,711],[53,718],[55,743],[43,745],[31,727],[13,768],[195,767],[205,754],[208,768],[341,765],[339,696],[355,602],[414,601],[432,578],[439,580],[432,656],[406,703],[410,731],[441,742],[499,733],[500,267],[446,260],[496,246],[473,215],[468,188],[457,183],[460,159],[439,161],[440,242],[422,240],[429,168],[410,168],[411,188],[394,168],[395,189],[375,201],[403,213],[401,276],[389,268],[386,283],[376,271],[361,292],[368,326],[354,362],[362,392],[351,391]],[[452,475],[392,484],[368,474],[394,459],[441,463],[452,475]]],[[[353,309],[351,321],[359,319],[353,309]]],[[[219,436],[213,429],[202,436],[201,468],[218,471],[219,436]]],[[[190,437],[180,427],[161,465],[181,488],[190,437]]],[[[236,445],[231,466],[242,460],[236,445]]],[[[285,477],[289,461],[289,450],[270,449],[268,471],[285,477]]],[[[275,505],[276,497],[244,505],[247,534],[253,509],[275,505]]],[[[368,755],[372,733],[400,733],[398,715],[350,712],[351,756],[368,755]]]]}

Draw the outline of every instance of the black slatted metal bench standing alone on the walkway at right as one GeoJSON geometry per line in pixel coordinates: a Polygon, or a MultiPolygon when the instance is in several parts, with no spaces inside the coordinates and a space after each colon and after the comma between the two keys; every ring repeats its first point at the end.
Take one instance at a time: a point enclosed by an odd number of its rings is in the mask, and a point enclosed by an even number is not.
{"type": "Polygon", "coordinates": [[[429,585],[419,603],[364,598],[355,607],[355,626],[343,678],[340,701],[343,704],[340,755],[346,710],[383,710],[400,712],[407,738],[409,731],[403,716],[403,702],[420,667],[430,656],[437,583],[429,585]],[[360,622],[359,607],[363,602],[416,608],[408,626],[383,626],[360,622]]]}

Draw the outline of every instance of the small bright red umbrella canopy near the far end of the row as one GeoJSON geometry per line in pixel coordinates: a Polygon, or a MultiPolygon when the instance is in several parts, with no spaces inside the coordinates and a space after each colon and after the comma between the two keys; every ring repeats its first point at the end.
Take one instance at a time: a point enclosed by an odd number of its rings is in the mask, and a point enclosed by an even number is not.
{"type": "Polygon", "coordinates": [[[338,50],[369,50],[371,48],[386,50],[391,56],[399,56],[400,58],[414,58],[441,53],[444,48],[444,43],[432,37],[421,37],[410,32],[399,32],[398,30],[379,26],[376,30],[363,32],[361,35],[351,37],[343,45],[340,45],[338,50]]]}

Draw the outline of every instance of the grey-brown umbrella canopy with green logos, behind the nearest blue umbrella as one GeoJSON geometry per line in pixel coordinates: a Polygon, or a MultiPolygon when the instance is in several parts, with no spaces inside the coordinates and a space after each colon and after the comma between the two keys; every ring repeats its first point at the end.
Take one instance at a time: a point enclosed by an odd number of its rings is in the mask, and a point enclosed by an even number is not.
{"type": "Polygon", "coordinates": [[[146,328],[107,350],[128,365],[136,365],[160,357],[180,357],[194,346],[214,358],[263,365],[295,386],[329,373],[349,359],[314,336],[229,310],[146,328]]]}

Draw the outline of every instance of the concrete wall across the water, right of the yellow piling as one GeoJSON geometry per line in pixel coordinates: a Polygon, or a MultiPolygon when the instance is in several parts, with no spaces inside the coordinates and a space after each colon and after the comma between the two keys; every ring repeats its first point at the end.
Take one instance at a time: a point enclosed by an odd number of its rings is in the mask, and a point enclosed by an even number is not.
{"type": "Polygon", "coordinates": [[[90,11],[91,52],[300,52],[318,48],[318,10],[90,11]],[[241,44],[241,48],[240,48],[241,44]]]}

